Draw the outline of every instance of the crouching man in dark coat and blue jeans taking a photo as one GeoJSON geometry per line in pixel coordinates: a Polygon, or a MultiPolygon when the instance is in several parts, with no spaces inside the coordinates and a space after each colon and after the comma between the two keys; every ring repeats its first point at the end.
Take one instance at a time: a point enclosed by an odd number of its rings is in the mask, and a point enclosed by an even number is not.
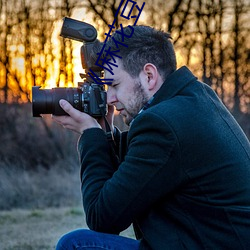
{"type": "Polygon", "coordinates": [[[128,45],[119,46],[114,75],[105,71],[114,79],[107,119],[115,150],[103,121],[68,102],[60,105],[69,116],[54,117],[81,134],[91,229],[65,235],[57,249],[250,249],[249,141],[209,86],[176,69],[169,34],[146,26],[124,33],[107,43],[111,51],[115,41],[128,45]],[[125,136],[112,124],[113,107],[130,125],[125,136]],[[118,236],[131,223],[137,240],[118,236]]]}

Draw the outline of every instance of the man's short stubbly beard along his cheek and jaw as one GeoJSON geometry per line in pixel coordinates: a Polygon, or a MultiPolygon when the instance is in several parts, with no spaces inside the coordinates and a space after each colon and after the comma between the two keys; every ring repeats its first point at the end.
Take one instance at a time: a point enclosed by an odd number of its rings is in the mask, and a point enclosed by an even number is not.
{"type": "Polygon", "coordinates": [[[141,82],[135,80],[134,84],[134,96],[128,100],[128,105],[125,107],[126,115],[124,116],[124,122],[127,125],[130,124],[149,100],[149,96],[143,89],[141,82]]]}

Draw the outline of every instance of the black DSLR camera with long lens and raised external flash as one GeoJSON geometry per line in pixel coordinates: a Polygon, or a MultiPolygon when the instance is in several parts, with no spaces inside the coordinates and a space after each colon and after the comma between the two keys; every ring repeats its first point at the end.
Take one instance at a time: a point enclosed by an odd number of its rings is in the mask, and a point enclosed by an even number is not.
{"type": "MultiPolygon", "coordinates": [[[[68,17],[63,18],[60,36],[83,42],[81,47],[81,63],[85,70],[91,69],[96,76],[102,76],[102,68],[94,65],[93,53],[97,53],[98,44],[96,29],[85,22],[80,22],[68,17]],[[95,49],[94,49],[95,48],[95,49]]],[[[74,108],[98,118],[107,112],[107,93],[104,86],[95,83],[87,74],[80,74],[83,82],[78,83],[78,88],[52,88],[40,89],[32,87],[33,117],[41,114],[67,115],[60,107],[59,100],[67,100],[74,108]]]]}

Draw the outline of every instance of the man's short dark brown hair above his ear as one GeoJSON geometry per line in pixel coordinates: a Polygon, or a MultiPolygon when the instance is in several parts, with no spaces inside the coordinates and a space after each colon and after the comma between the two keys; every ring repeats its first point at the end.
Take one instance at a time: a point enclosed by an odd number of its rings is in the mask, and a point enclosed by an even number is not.
{"type": "Polygon", "coordinates": [[[117,51],[121,56],[124,70],[136,78],[146,63],[154,64],[163,80],[176,70],[176,56],[169,33],[156,30],[149,26],[132,26],[117,30],[106,43],[110,51],[117,51]],[[122,36],[121,33],[124,35],[122,36]],[[132,34],[132,36],[131,36],[132,34]],[[131,37],[129,37],[131,36],[131,37]],[[116,42],[118,42],[118,48],[116,42]],[[123,46],[123,43],[128,47],[123,46]]]}

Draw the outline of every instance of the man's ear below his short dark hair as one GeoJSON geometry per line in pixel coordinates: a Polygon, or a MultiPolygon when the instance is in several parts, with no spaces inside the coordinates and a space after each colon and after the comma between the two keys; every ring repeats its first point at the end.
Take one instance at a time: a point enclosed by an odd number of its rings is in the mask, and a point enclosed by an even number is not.
{"type": "Polygon", "coordinates": [[[159,72],[156,66],[152,63],[147,63],[143,67],[143,73],[146,77],[148,90],[154,90],[159,81],[159,72]]]}

